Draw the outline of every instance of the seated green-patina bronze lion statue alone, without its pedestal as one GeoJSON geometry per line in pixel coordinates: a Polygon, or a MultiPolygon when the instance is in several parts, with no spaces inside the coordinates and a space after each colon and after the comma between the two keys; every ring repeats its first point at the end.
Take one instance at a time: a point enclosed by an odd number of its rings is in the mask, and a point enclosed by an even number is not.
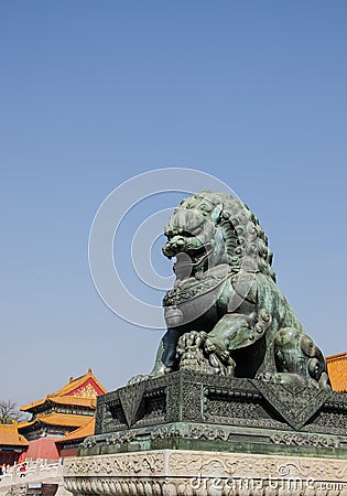
{"type": "Polygon", "coordinates": [[[225,193],[182,201],[163,254],[176,280],[163,299],[167,332],[148,376],[178,369],[329,388],[322,352],[275,283],[257,217],[225,193]]]}

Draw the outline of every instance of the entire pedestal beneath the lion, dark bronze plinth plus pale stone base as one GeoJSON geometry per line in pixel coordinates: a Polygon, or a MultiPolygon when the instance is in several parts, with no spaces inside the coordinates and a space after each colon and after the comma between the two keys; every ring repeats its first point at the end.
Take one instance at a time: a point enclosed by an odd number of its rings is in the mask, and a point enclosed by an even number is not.
{"type": "Polygon", "coordinates": [[[98,397],[82,495],[347,496],[347,395],[188,370],[98,397]]]}

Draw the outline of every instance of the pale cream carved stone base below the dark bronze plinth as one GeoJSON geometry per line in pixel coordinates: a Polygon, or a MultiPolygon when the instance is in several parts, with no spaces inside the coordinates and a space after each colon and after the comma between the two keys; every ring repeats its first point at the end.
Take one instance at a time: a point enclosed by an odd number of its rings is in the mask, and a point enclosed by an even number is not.
{"type": "Polygon", "coordinates": [[[65,461],[75,495],[347,495],[344,460],[159,450],[65,461]]]}

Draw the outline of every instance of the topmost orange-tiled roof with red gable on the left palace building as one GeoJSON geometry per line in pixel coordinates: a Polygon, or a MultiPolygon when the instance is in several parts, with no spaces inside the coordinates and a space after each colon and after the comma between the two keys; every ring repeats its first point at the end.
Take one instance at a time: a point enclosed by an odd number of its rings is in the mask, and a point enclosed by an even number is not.
{"type": "Polygon", "coordinates": [[[21,407],[22,411],[36,413],[43,411],[50,403],[65,405],[72,407],[96,408],[96,398],[107,390],[101,386],[89,368],[87,374],[73,377],[61,389],[51,392],[45,398],[21,407]]]}

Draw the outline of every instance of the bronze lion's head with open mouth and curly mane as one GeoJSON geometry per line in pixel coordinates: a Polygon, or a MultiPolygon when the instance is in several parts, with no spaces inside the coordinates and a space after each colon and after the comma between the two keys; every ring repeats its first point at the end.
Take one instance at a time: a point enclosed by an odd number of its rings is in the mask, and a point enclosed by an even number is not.
{"type": "Polygon", "coordinates": [[[166,257],[176,257],[177,279],[227,263],[234,273],[263,272],[275,278],[272,252],[257,217],[239,200],[203,191],[183,200],[165,227],[166,257]]]}

